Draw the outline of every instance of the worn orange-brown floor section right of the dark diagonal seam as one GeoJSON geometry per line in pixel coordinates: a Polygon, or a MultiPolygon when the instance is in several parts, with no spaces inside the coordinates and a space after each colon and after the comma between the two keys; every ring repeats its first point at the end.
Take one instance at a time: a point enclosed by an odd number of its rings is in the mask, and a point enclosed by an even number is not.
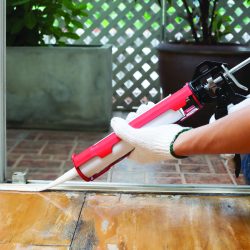
{"type": "Polygon", "coordinates": [[[250,249],[250,197],[88,195],[73,249],[250,249]]]}

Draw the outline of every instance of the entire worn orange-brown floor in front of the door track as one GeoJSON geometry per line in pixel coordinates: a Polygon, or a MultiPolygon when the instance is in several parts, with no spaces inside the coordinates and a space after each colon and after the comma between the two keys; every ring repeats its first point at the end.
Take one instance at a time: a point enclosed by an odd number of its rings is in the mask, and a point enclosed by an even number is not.
{"type": "Polygon", "coordinates": [[[250,249],[250,196],[0,192],[0,249],[250,249]]]}

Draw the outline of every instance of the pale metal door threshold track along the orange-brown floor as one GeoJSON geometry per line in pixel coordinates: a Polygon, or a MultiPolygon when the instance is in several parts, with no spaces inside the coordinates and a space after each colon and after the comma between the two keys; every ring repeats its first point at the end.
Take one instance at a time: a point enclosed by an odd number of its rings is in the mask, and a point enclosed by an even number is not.
{"type": "MultiPolygon", "coordinates": [[[[50,181],[29,180],[27,184],[0,184],[0,191],[29,191],[47,185],[50,181]]],[[[131,183],[107,183],[107,182],[82,182],[68,181],[46,191],[83,191],[105,193],[154,193],[154,194],[225,194],[225,195],[249,195],[250,186],[241,185],[195,185],[195,184],[131,184],[131,183]]]]}

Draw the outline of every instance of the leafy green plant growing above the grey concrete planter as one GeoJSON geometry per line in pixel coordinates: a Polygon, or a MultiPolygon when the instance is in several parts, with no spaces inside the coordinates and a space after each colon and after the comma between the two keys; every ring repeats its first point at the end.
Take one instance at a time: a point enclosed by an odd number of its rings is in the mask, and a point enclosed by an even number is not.
{"type": "Polygon", "coordinates": [[[75,30],[83,29],[86,8],[82,0],[7,0],[7,45],[45,45],[44,36],[57,45],[77,40],[75,30]]]}

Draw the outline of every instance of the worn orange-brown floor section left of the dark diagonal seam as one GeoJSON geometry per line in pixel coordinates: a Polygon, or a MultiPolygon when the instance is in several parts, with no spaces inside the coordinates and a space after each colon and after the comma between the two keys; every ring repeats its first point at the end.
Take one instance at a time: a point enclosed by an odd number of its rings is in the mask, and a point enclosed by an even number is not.
{"type": "Polygon", "coordinates": [[[67,247],[85,194],[0,192],[1,244],[67,247]]]}

